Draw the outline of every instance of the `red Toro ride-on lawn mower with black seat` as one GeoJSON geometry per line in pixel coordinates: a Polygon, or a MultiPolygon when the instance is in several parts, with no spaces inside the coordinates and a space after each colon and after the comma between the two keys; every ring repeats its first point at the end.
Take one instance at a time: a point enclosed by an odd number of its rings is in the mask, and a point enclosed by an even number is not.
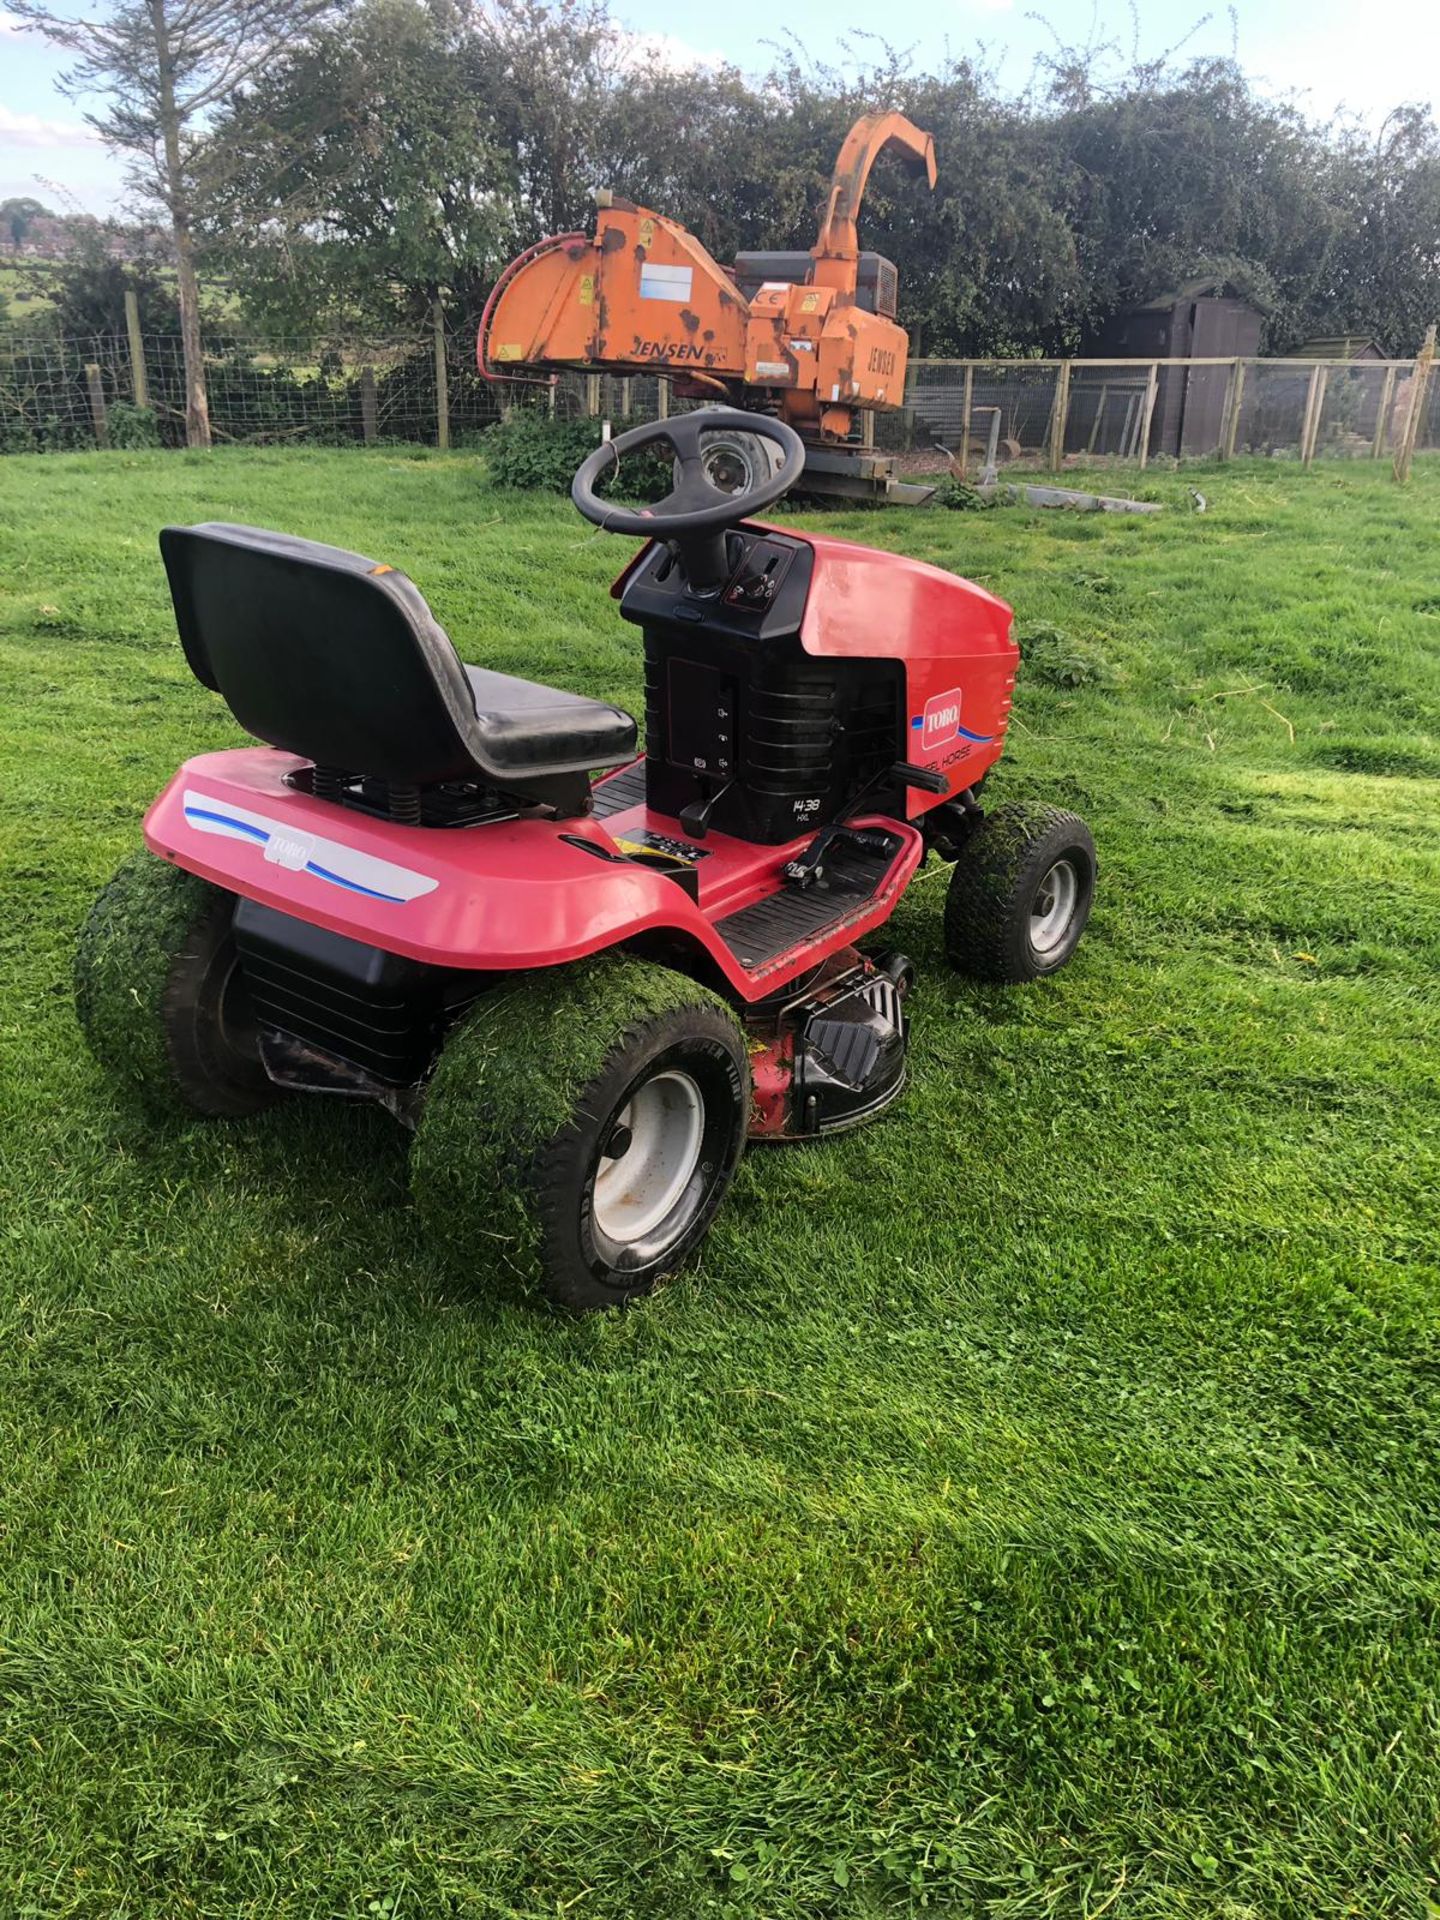
{"type": "Polygon", "coordinates": [[[1062,966],[1089,831],[977,801],[1010,716],[1008,607],[749,520],[803,461],[780,420],[707,409],[576,474],[588,520],[645,538],[612,589],[645,641],[643,758],[616,707],[465,666],[394,566],[167,528],[186,659],[267,745],[186,760],[92,908],[96,1056],[198,1114],[382,1102],[415,1127],[451,1267],[588,1309],[684,1260],[747,1139],[835,1133],[900,1092],[912,968],[858,941],[931,847],[954,858],[962,972],[1062,966]],[[724,492],[737,434],[772,455],[724,492]],[[660,444],[657,507],[595,493],[660,444]]]}

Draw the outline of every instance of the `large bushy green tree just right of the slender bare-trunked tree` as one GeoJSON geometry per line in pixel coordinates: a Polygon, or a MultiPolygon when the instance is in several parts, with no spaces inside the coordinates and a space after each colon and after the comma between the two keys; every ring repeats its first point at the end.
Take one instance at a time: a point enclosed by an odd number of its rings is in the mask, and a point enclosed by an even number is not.
{"type": "Polygon", "coordinates": [[[217,125],[211,234],[250,311],[386,324],[444,290],[478,317],[522,246],[589,219],[626,46],[597,0],[361,0],[294,44],[217,125]]]}

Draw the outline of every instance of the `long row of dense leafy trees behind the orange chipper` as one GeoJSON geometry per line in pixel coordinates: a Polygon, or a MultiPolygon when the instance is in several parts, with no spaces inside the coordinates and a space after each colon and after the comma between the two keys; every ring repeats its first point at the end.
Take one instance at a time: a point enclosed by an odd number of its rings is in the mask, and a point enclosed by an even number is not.
{"type": "Polygon", "coordinates": [[[357,0],[236,90],[209,238],[252,315],[476,319],[503,265],[589,230],[612,188],[718,261],[808,248],[841,140],[895,108],[935,136],[935,194],[881,163],[860,223],[925,353],[1073,353],[1117,309],[1196,278],[1273,346],[1367,330],[1413,349],[1440,309],[1440,136],[1317,127],[1235,61],[1056,46],[1012,96],[983,63],[914,71],[781,54],[751,81],[676,67],[605,0],[357,0]]]}

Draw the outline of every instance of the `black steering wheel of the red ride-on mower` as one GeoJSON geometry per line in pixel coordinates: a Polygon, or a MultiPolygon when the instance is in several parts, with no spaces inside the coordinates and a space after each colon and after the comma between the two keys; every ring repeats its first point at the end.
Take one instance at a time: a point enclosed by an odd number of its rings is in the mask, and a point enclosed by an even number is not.
{"type": "Polygon", "coordinates": [[[680,553],[680,564],[691,588],[720,586],[728,574],[726,528],[735,526],[760,507],[770,507],[787,493],[804,470],[804,442],[793,426],[772,420],[764,413],[743,413],[739,407],[701,407],[680,413],[672,420],[649,420],[632,426],[618,440],[607,440],[580,465],[570,482],[570,499],[580,513],[607,534],[637,534],[641,540],[670,540],[680,553]],[[770,440],[783,453],[778,472],[735,493],[712,486],[705,470],[707,434],[755,434],[770,440]],[[595,482],[620,465],[622,455],[639,453],[657,442],[672,447],[676,484],[653,507],[616,507],[595,493],[595,482]]]}

